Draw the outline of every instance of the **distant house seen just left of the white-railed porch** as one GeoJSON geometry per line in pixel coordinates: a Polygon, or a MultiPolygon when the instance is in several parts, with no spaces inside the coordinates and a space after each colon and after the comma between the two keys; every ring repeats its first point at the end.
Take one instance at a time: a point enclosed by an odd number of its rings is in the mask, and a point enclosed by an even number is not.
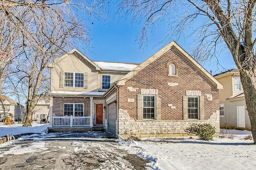
{"type": "Polygon", "coordinates": [[[32,119],[40,121],[41,119],[47,118],[50,113],[50,97],[38,96],[36,100],[37,102],[33,109],[32,119]]]}

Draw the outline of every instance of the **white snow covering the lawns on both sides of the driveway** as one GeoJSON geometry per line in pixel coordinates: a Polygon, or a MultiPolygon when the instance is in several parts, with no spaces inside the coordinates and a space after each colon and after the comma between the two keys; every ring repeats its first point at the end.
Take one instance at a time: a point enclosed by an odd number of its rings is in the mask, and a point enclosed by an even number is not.
{"type": "MultiPolygon", "coordinates": [[[[34,127],[20,126],[0,125],[0,135],[44,133],[48,124],[33,123],[34,127]]],[[[251,132],[221,129],[220,133],[221,137],[215,137],[213,141],[201,141],[197,137],[151,137],[143,138],[140,142],[119,143],[122,144],[120,149],[152,161],[148,166],[154,170],[254,170],[256,145],[252,145],[252,140],[245,139],[251,132]]],[[[35,147],[38,149],[33,152],[40,152],[42,147],[44,146],[35,147]]]]}

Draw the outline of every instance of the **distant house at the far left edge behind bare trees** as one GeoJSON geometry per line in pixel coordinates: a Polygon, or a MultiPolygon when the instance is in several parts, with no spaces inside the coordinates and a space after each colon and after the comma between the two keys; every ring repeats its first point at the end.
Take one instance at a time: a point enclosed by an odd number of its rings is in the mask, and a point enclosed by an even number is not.
{"type": "Polygon", "coordinates": [[[5,95],[0,95],[0,100],[2,101],[0,102],[0,121],[4,120],[4,111],[6,113],[6,117],[8,117],[10,113],[12,113],[13,121],[18,121],[19,119],[21,119],[21,114],[24,117],[24,106],[20,105],[18,102],[12,100],[5,95]]]}

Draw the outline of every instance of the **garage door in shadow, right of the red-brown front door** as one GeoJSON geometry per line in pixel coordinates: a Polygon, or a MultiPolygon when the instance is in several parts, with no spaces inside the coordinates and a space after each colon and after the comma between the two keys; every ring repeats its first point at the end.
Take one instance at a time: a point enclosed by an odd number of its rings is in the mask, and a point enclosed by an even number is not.
{"type": "Polygon", "coordinates": [[[116,134],[116,106],[114,106],[114,102],[108,104],[108,131],[116,134]]]}

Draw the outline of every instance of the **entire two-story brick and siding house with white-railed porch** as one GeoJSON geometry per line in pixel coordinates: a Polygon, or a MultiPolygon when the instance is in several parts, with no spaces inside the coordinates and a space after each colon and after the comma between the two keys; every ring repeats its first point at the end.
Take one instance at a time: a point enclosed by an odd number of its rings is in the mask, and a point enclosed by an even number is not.
{"type": "Polygon", "coordinates": [[[211,123],[219,133],[222,84],[174,41],[142,64],[91,61],[74,49],[49,67],[49,132],[102,125],[122,137],[172,136],[211,123]]]}

